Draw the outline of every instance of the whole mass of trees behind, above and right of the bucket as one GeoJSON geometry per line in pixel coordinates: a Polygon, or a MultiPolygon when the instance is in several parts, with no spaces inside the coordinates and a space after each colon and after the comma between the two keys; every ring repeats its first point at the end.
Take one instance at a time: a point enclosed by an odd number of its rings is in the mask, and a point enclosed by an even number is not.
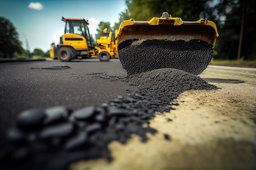
{"type": "Polygon", "coordinates": [[[164,11],[184,21],[207,18],[216,23],[219,33],[213,55],[215,59],[234,60],[241,57],[256,60],[254,0],[126,0],[126,6],[127,9],[119,13],[115,29],[124,20],[149,21],[153,17],[161,17],[164,11]]]}

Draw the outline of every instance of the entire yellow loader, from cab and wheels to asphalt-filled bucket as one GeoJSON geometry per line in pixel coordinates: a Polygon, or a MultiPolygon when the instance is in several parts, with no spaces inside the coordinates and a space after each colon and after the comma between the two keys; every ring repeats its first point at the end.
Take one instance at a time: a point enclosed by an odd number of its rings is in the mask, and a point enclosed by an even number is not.
{"type": "MultiPolygon", "coordinates": [[[[61,44],[52,45],[51,57],[61,61],[97,55],[108,61],[118,56],[128,75],[158,68],[176,68],[198,75],[209,65],[218,31],[207,19],[183,21],[167,12],[150,21],[123,21],[115,36],[110,32],[93,43],[84,19],[62,18],[61,44]]],[[[107,33],[107,30],[105,30],[107,33]]]]}

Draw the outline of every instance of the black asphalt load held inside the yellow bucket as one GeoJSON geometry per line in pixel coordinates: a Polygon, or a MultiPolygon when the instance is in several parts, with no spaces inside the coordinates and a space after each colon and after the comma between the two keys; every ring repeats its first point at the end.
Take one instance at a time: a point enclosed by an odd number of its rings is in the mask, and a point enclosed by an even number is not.
{"type": "Polygon", "coordinates": [[[199,75],[209,65],[214,51],[211,43],[198,39],[131,39],[118,44],[117,49],[128,75],[158,68],[176,68],[199,75]]]}

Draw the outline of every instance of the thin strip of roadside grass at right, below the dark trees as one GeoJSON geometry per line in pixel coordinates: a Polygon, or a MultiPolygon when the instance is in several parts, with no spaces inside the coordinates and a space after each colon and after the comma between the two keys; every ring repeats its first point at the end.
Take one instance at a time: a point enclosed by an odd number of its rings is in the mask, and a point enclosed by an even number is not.
{"type": "Polygon", "coordinates": [[[256,60],[211,60],[209,65],[256,68],[256,60]]]}

